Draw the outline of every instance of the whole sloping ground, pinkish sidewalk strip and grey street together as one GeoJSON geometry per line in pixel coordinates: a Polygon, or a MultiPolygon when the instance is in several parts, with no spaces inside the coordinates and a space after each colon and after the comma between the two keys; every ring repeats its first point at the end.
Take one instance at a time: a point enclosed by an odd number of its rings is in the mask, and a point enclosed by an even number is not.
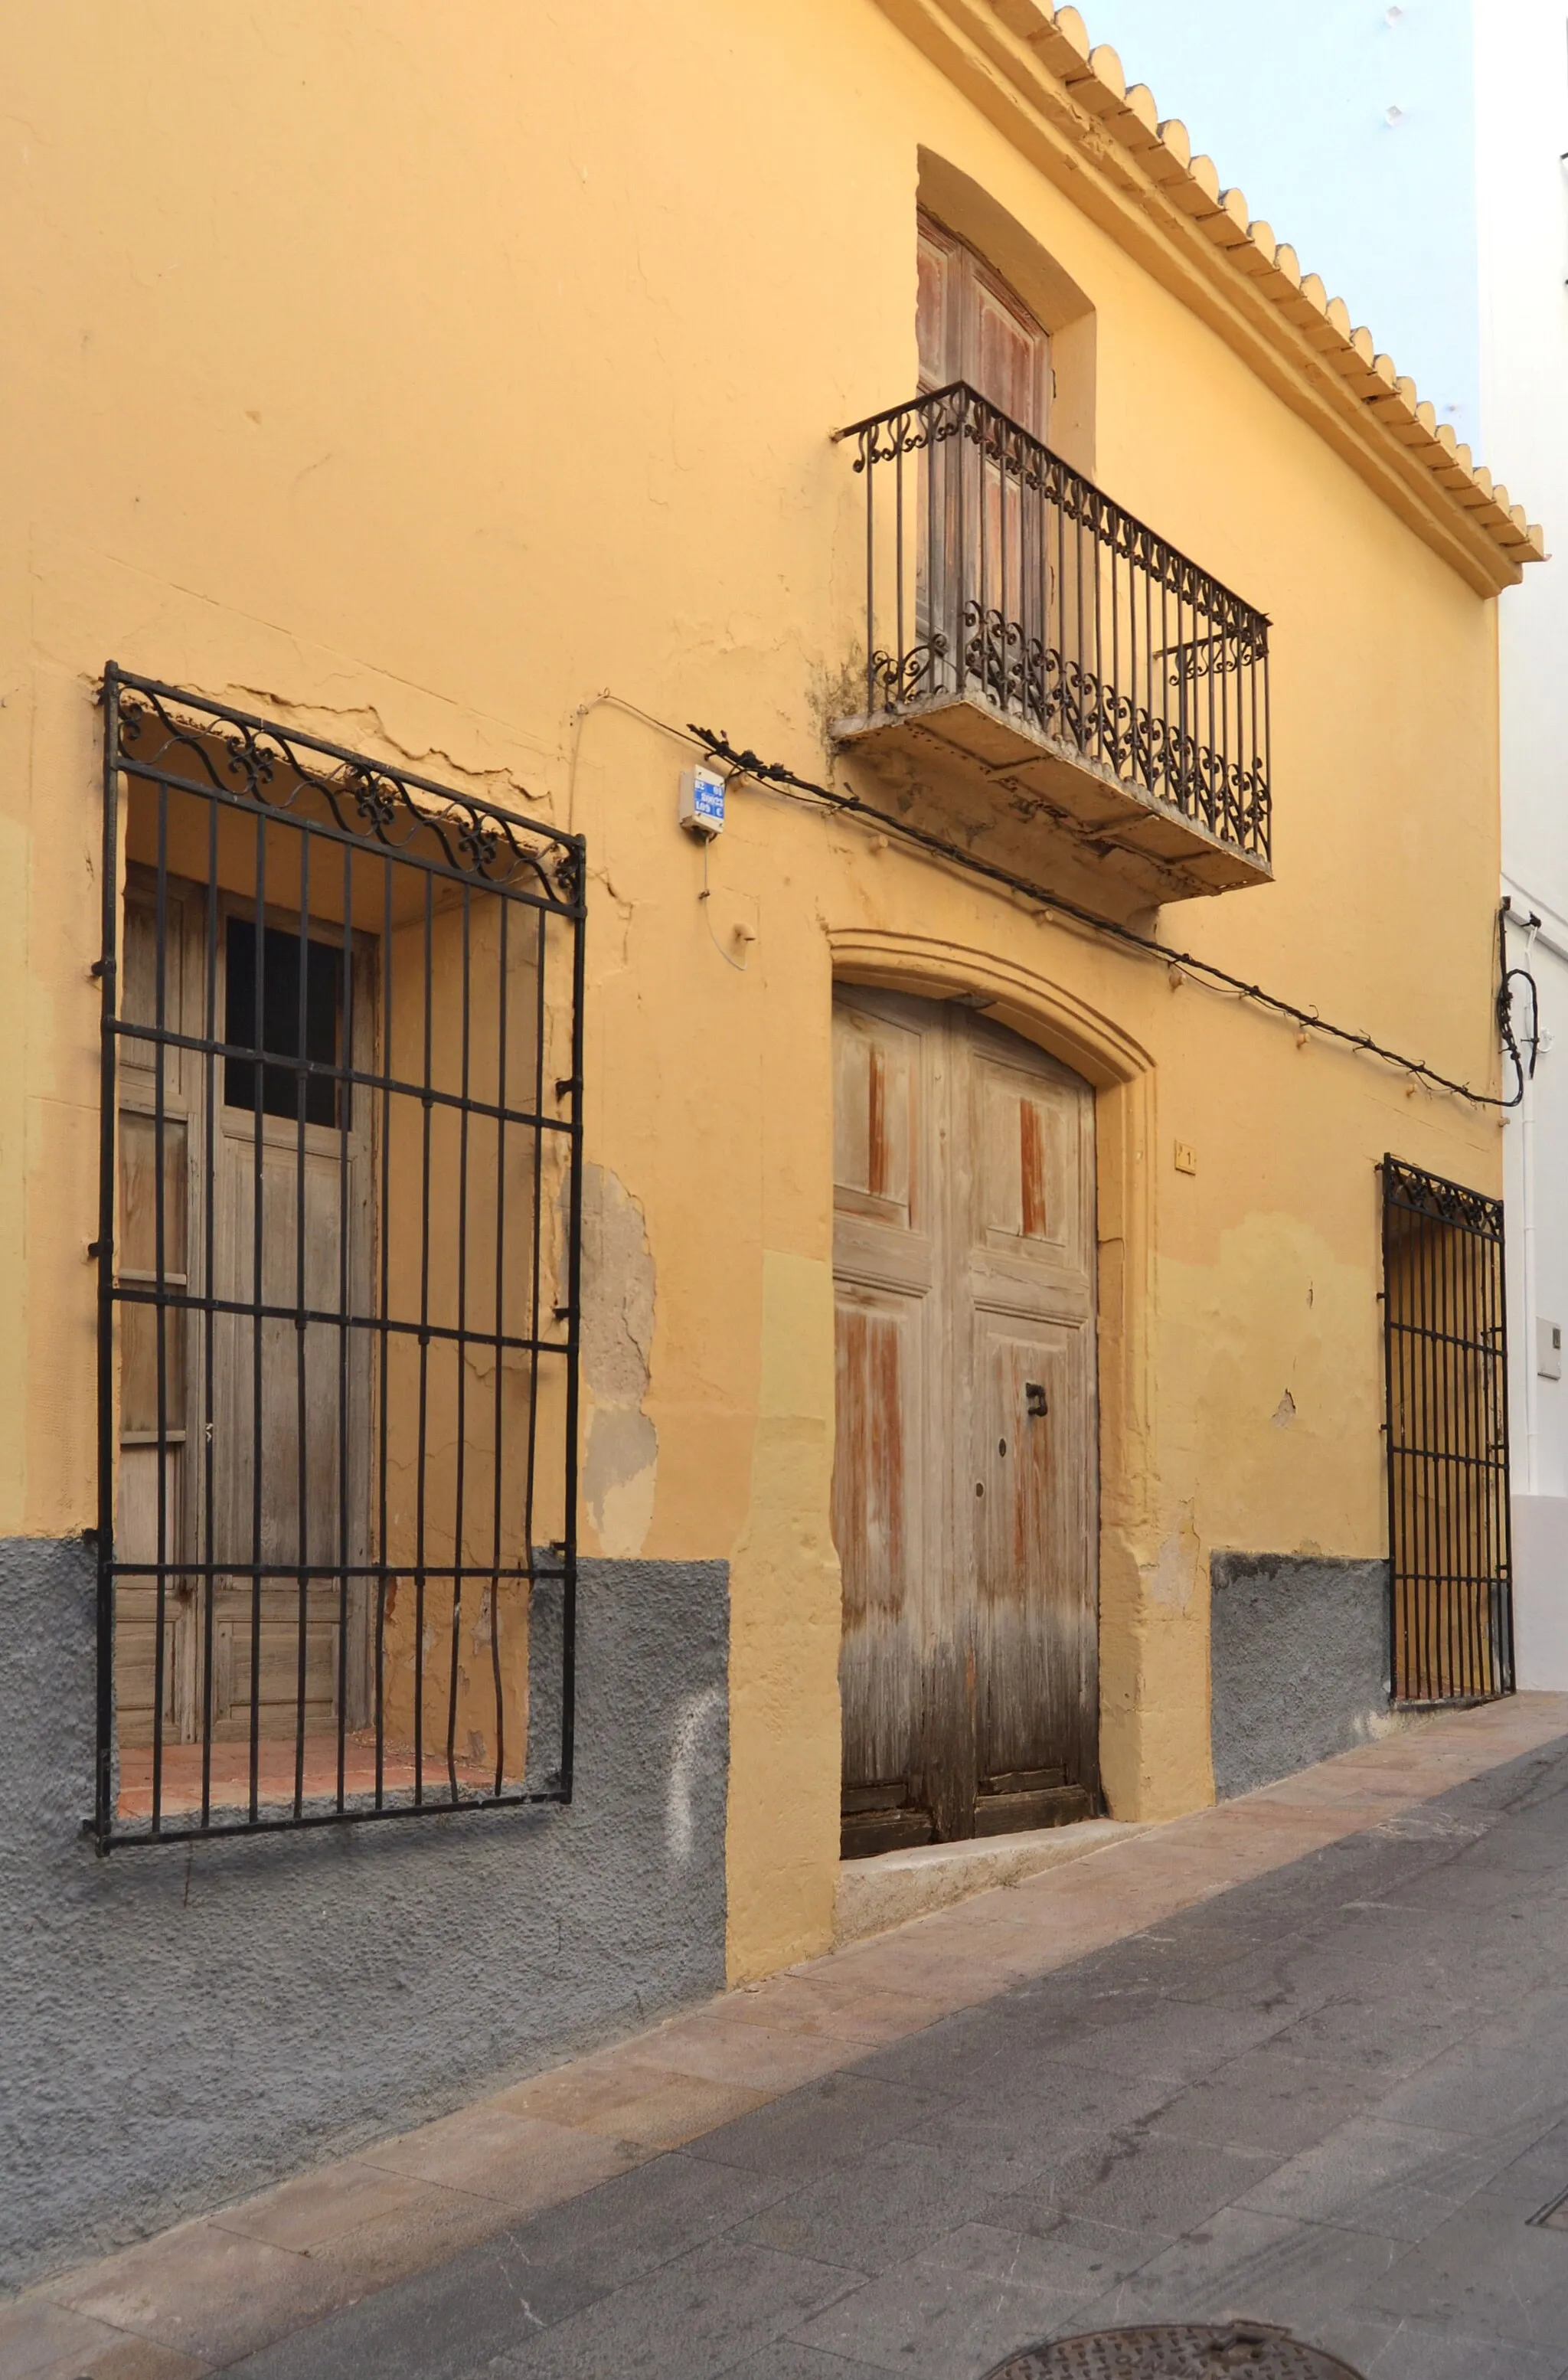
{"type": "Polygon", "coordinates": [[[0,2306],[0,2380],[1568,2375],[1568,1697],[1428,1721],[0,2306]]]}

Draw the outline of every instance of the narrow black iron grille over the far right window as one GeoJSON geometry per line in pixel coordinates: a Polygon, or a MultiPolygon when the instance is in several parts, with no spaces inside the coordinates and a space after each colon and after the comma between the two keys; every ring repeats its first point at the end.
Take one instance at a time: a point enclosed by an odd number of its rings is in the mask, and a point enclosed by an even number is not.
{"type": "Polygon", "coordinates": [[[1385,1157],[1382,1378],[1390,1692],[1513,1692],[1504,1202],[1385,1157]]]}

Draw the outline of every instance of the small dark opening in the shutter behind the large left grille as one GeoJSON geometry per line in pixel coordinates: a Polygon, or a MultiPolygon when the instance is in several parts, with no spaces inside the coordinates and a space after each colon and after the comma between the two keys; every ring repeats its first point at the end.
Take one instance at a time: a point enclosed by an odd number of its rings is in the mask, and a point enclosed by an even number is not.
{"type": "Polygon", "coordinates": [[[338,1066],[343,947],[305,942],[305,969],[300,969],[300,935],[264,926],[257,966],[252,919],[231,916],[224,973],[224,1040],[231,1050],[257,1050],[264,1059],[262,1066],[247,1057],[224,1059],[224,1104],[247,1107],[255,1114],[259,1073],[264,1116],[297,1121],[305,1092],[307,1123],[345,1130],[347,1083],[307,1071],[338,1066]]]}

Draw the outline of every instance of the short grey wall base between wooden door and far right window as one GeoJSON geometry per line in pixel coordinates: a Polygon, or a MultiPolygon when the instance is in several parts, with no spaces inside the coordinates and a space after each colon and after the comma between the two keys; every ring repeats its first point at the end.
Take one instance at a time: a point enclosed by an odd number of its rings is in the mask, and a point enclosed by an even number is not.
{"type": "Polygon", "coordinates": [[[1221,1802],[1375,1733],[1390,1706],[1385,1561],[1213,1554],[1209,1585],[1221,1802]]]}

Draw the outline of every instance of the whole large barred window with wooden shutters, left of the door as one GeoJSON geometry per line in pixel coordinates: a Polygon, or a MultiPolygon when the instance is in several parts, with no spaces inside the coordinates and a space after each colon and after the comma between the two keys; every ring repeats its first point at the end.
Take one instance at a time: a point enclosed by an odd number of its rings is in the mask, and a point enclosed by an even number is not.
{"type": "Polygon", "coordinates": [[[583,840],[109,664],[100,1849],[571,1799],[583,840]]]}

